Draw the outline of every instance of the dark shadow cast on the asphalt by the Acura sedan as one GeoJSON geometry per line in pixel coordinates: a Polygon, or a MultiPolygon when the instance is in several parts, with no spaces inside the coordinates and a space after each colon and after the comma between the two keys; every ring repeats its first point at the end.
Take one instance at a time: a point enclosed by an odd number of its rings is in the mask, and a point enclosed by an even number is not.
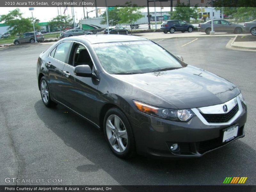
{"type": "Polygon", "coordinates": [[[121,185],[218,185],[228,176],[248,177],[247,184],[255,184],[249,177],[255,174],[256,154],[243,142],[244,139],[201,158],[155,159],[136,156],[124,160],[112,154],[103,132],[67,108],[61,105],[46,108],[41,100],[34,107],[46,129],[52,130],[67,146],[93,163],[77,166],[79,172],[102,169],[121,185]]]}

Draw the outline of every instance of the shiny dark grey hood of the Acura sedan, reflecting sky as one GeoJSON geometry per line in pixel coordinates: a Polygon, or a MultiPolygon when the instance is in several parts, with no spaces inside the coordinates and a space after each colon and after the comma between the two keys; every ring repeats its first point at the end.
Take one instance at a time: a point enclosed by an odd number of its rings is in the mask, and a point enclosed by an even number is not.
{"type": "Polygon", "coordinates": [[[114,76],[180,109],[221,104],[240,93],[226,79],[190,65],[169,71],[114,76]]]}

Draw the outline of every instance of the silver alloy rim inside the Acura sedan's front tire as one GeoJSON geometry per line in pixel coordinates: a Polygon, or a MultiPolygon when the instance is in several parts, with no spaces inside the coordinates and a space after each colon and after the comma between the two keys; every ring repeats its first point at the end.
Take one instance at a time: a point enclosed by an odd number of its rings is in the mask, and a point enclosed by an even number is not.
{"type": "Polygon", "coordinates": [[[106,121],[106,133],[112,148],[122,153],[127,148],[128,135],[123,121],[116,115],[110,115],[106,121]]]}

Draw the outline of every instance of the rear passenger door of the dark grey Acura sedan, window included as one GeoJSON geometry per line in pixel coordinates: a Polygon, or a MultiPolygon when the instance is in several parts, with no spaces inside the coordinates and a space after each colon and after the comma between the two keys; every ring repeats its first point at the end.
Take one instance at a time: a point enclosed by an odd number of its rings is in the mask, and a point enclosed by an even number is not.
{"type": "Polygon", "coordinates": [[[55,100],[63,102],[63,94],[61,87],[64,84],[64,78],[62,70],[65,63],[67,63],[68,54],[72,41],[64,41],[55,46],[50,52],[46,61],[46,68],[48,71],[49,88],[50,92],[55,100]]]}

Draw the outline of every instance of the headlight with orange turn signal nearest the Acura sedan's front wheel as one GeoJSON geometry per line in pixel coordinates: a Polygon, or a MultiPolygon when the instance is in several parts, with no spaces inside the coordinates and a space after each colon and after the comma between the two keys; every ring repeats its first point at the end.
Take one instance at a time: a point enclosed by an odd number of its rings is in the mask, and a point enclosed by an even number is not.
{"type": "Polygon", "coordinates": [[[133,103],[136,108],[143,113],[173,121],[188,121],[194,115],[194,113],[190,109],[160,108],[148,105],[137,100],[133,100],[133,103]]]}

